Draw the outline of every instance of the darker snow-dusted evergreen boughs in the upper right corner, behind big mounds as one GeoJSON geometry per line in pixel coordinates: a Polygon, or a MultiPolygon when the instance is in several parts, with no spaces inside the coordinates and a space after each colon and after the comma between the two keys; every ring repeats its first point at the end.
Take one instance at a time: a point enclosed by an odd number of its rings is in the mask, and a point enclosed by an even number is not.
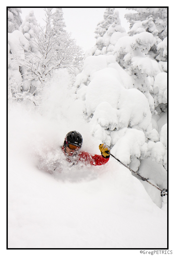
{"type": "MultiPolygon", "coordinates": [[[[157,60],[167,60],[167,8],[126,8],[134,10],[136,13],[128,13],[125,18],[130,23],[129,35],[141,32],[150,32],[154,36],[154,44],[151,46],[150,54],[157,60]],[[166,40],[164,41],[164,39],[166,40]],[[162,44],[161,42],[164,41],[162,44]],[[161,44],[160,44],[161,43],[161,44]],[[166,45],[165,45],[166,44],[166,45]],[[163,47],[162,51],[159,49],[163,47]],[[159,54],[159,56],[158,56],[159,54]]],[[[163,65],[164,66],[164,65],[163,65]]],[[[164,69],[167,71],[166,69],[164,69]]]]}

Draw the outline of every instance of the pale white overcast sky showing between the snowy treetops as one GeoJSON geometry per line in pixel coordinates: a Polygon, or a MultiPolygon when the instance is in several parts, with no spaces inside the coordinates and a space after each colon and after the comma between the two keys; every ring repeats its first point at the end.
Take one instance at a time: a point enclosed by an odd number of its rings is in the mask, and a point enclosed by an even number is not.
{"type": "MultiPolygon", "coordinates": [[[[83,47],[83,50],[93,47],[96,43],[94,38],[95,28],[97,24],[103,19],[103,14],[106,8],[62,8],[63,18],[66,24],[66,30],[72,33],[72,38],[74,38],[77,44],[83,47]]],[[[129,12],[125,8],[116,8],[119,10],[121,25],[126,29],[129,29],[129,24],[124,18],[124,15],[129,12]]],[[[42,18],[45,18],[45,12],[43,8],[21,8],[21,17],[24,20],[25,16],[29,14],[30,11],[34,11],[35,18],[37,22],[44,26],[45,23],[42,18]]]]}

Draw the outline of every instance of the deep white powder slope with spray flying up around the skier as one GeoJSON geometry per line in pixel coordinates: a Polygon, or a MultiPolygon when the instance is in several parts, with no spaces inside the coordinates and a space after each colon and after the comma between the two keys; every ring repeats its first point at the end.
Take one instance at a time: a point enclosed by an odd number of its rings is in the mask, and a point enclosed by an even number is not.
{"type": "Polygon", "coordinates": [[[63,74],[53,80],[37,108],[9,105],[8,248],[167,248],[166,196],[160,209],[147,184],[112,157],[104,166],[64,161],[59,146],[70,130],[82,134],[84,151],[100,154],[101,143],[68,84],[63,74]],[[61,173],[39,168],[56,156],[61,173]]]}

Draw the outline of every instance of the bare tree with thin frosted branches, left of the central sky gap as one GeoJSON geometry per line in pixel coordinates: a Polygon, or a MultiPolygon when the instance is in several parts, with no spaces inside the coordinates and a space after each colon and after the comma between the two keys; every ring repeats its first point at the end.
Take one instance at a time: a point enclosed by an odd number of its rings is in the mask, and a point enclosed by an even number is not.
{"type": "Polygon", "coordinates": [[[8,58],[11,63],[25,68],[22,73],[22,79],[31,81],[39,79],[42,83],[47,74],[58,68],[78,68],[82,69],[84,53],[82,48],[76,45],[71,34],[62,31],[63,22],[54,23],[52,14],[53,8],[47,8],[46,26],[33,27],[32,37],[29,44],[22,44],[20,49],[23,51],[23,57],[11,51],[8,58]],[[27,45],[27,47],[25,46],[27,45]]]}

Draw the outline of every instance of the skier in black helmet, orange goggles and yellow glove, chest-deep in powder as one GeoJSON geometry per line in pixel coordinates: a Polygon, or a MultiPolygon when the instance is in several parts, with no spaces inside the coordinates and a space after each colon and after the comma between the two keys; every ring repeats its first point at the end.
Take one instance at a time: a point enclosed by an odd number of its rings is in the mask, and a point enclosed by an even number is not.
{"type": "Polygon", "coordinates": [[[110,155],[110,149],[105,144],[100,144],[99,149],[101,155],[93,155],[84,151],[80,151],[82,146],[83,138],[81,134],[77,131],[70,131],[65,137],[64,144],[62,146],[62,151],[66,155],[66,159],[72,163],[76,164],[81,161],[85,164],[90,163],[91,165],[104,165],[108,162],[110,155]]]}

